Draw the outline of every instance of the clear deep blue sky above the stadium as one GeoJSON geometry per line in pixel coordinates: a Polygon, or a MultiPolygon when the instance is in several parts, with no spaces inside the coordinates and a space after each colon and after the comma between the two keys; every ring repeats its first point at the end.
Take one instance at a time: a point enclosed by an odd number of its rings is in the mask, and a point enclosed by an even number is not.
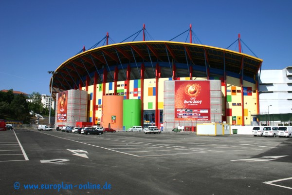
{"type": "MultiPolygon", "coordinates": [[[[107,32],[110,43],[118,43],[143,23],[154,40],[170,40],[192,24],[202,44],[220,48],[240,33],[263,59],[262,69],[283,69],[292,66],[291,8],[291,0],[2,0],[0,90],[49,95],[47,71],[107,32]]],[[[135,40],[142,40],[142,34],[135,40]]],[[[236,44],[229,49],[238,51],[236,44]]],[[[243,53],[253,55],[244,45],[243,53]]]]}

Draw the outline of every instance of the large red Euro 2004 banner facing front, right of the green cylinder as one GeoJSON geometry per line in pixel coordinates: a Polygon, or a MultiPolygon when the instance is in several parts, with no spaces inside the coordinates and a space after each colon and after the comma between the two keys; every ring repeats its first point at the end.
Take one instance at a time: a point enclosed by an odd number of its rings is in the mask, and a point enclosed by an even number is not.
{"type": "Polygon", "coordinates": [[[175,81],[175,119],[210,120],[210,81],[175,81]]]}

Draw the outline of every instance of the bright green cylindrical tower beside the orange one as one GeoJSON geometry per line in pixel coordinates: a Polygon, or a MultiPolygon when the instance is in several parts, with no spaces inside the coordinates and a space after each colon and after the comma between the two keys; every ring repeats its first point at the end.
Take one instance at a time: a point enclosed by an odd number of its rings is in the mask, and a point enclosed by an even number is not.
{"type": "Polygon", "coordinates": [[[124,99],[123,130],[132,126],[141,126],[141,99],[124,99]]]}

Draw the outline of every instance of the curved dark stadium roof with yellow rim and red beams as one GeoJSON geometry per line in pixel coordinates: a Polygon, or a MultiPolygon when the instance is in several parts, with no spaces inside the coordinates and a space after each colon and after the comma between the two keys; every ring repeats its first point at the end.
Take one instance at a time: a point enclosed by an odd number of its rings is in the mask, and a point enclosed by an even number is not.
{"type": "MultiPolygon", "coordinates": [[[[62,63],[53,78],[55,93],[79,88],[79,80],[85,86],[86,76],[93,84],[94,73],[102,83],[104,69],[108,71],[107,82],[113,82],[114,70],[118,68],[118,81],[127,80],[127,67],[131,67],[130,79],[140,79],[141,64],[145,64],[145,78],[155,78],[155,67],[159,63],[161,78],[172,78],[172,65],[176,66],[176,77],[241,78],[255,82],[262,59],[218,47],[173,41],[134,41],[97,47],[84,51],[62,63]],[[225,70],[225,72],[224,72],[225,70]]],[[[52,84],[52,80],[50,86],[52,84]]]]}

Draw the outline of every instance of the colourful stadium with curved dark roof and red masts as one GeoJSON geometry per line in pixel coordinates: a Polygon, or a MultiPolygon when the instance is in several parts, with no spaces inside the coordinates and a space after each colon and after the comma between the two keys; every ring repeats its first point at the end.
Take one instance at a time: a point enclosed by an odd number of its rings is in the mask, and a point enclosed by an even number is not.
{"type": "MultiPolygon", "coordinates": [[[[143,40],[81,51],[52,72],[55,125],[117,130],[154,125],[164,131],[197,123],[250,125],[259,113],[262,59],[228,49],[143,40]]],[[[134,34],[135,35],[135,34],[134,34]]]]}

